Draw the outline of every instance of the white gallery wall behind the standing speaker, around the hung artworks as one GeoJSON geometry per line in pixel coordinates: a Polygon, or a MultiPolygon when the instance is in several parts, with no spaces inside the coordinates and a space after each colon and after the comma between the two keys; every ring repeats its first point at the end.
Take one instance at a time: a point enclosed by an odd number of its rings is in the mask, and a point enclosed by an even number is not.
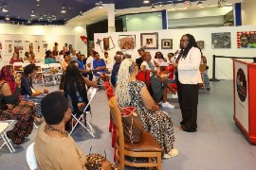
{"type": "MultiPolygon", "coordinates": [[[[133,59],[137,59],[137,49],[140,48],[140,33],[158,33],[158,49],[148,49],[152,57],[155,57],[156,51],[161,51],[165,58],[170,52],[175,52],[179,49],[179,40],[182,35],[190,33],[195,37],[196,41],[204,41],[205,48],[202,50],[208,59],[210,66],[209,76],[212,76],[212,56],[227,56],[227,57],[256,57],[256,48],[238,49],[237,48],[237,32],[238,31],[255,31],[256,26],[223,26],[223,27],[204,27],[204,28],[188,28],[188,29],[167,29],[167,30],[153,30],[153,31],[133,31],[133,32],[112,32],[112,33],[98,33],[94,35],[94,40],[103,40],[103,38],[112,38],[115,47],[108,51],[109,56],[114,60],[115,53],[119,50],[119,35],[136,35],[136,47],[132,50],[123,51],[123,53],[131,54],[133,59]],[[229,49],[213,49],[211,46],[211,33],[230,32],[231,35],[231,48],[229,49]],[[161,49],[161,39],[173,39],[173,49],[161,49]]],[[[110,47],[113,47],[110,44],[110,47]]],[[[95,49],[103,58],[103,42],[101,46],[95,43],[95,49]]],[[[252,59],[244,59],[249,62],[252,59]]],[[[231,59],[216,59],[216,78],[232,79],[232,61],[231,59]]]]}

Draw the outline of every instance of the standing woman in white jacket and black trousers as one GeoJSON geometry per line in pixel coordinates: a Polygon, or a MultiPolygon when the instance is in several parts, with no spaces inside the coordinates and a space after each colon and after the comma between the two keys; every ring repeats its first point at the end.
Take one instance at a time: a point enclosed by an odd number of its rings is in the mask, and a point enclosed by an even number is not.
{"type": "Polygon", "coordinates": [[[201,53],[191,34],[181,37],[180,48],[174,64],[178,71],[178,98],[182,114],[180,130],[194,132],[197,127],[198,83],[202,83],[199,71],[201,53]]]}

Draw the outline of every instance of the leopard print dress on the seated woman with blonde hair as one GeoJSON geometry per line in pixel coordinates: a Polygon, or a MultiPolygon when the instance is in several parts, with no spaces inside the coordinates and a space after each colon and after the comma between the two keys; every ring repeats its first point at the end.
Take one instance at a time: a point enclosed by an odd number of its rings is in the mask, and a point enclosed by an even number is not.
{"type": "Polygon", "coordinates": [[[152,133],[157,143],[163,149],[162,154],[167,154],[174,148],[173,122],[167,112],[161,110],[153,112],[145,108],[139,94],[144,86],[146,85],[142,81],[129,82],[130,106],[137,108],[137,113],[142,120],[144,130],[152,133]]]}

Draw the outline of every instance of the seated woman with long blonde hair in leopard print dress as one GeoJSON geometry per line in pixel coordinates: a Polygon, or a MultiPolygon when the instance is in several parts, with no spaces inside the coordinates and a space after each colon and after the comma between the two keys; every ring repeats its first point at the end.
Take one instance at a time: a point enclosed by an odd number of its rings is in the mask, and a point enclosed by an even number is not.
{"type": "Polygon", "coordinates": [[[116,95],[119,107],[136,107],[145,131],[150,131],[162,147],[163,158],[178,155],[174,149],[174,127],[167,112],[159,110],[144,82],[136,79],[137,66],[133,59],[124,59],[119,68],[116,95]]]}

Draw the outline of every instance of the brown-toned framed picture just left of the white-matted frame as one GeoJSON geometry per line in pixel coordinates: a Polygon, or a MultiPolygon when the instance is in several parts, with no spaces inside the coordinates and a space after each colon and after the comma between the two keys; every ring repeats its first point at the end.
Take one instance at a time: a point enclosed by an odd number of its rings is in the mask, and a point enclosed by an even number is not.
{"type": "Polygon", "coordinates": [[[134,49],[136,47],[136,35],[119,35],[119,47],[121,50],[134,49]]]}

